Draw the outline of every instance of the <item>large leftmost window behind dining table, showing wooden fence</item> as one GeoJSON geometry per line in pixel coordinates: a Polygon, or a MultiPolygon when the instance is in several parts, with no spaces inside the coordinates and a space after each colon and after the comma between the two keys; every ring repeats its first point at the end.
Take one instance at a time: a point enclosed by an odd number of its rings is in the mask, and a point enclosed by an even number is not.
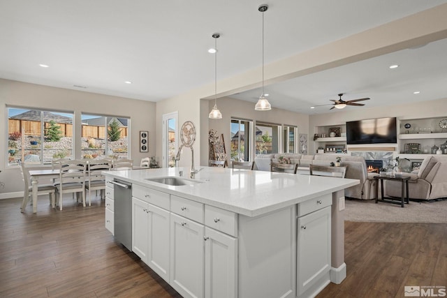
{"type": "Polygon", "coordinates": [[[8,163],[50,164],[73,158],[73,112],[6,107],[8,163]]]}

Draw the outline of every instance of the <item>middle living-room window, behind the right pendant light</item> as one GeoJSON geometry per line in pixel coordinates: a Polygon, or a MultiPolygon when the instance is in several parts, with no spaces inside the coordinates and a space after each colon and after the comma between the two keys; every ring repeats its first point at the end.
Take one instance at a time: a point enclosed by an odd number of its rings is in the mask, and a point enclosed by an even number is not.
{"type": "Polygon", "coordinates": [[[256,123],[256,154],[279,153],[279,128],[277,124],[256,123]]]}

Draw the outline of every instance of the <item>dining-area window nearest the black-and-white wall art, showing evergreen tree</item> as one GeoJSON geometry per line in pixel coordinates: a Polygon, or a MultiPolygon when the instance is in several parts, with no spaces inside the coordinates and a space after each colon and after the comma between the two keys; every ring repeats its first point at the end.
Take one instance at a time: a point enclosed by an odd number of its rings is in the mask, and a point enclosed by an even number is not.
{"type": "Polygon", "coordinates": [[[82,158],[129,158],[129,122],[122,117],[82,114],[82,158]]]}

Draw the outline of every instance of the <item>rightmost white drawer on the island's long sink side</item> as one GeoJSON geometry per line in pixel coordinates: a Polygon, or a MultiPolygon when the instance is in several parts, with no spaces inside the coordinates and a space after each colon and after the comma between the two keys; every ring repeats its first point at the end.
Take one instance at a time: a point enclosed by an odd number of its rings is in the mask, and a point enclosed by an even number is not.
{"type": "Polygon", "coordinates": [[[205,225],[237,237],[237,214],[205,205],[205,225]]]}

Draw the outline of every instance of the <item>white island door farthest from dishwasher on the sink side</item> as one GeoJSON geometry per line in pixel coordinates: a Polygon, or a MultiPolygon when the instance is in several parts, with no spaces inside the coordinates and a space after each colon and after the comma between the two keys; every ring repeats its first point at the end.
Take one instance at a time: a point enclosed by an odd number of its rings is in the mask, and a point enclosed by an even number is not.
{"type": "Polygon", "coordinates": [[[205,297],[237,297],[237,239],[207,227],[205,297]]]}

